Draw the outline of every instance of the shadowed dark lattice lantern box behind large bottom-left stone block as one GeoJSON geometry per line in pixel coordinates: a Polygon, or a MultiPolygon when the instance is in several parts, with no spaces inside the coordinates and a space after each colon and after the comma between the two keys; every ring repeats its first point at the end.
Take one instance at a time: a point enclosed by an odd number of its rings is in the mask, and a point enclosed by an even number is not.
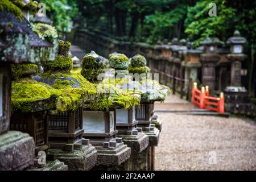
{"type": "Polygon", "coordinates": [[[35,141],[36,153],[49,148],[48,122],[46,114],[42,112],[13,113],[11,115],[10,129],[30,134],[35,141]]]}

